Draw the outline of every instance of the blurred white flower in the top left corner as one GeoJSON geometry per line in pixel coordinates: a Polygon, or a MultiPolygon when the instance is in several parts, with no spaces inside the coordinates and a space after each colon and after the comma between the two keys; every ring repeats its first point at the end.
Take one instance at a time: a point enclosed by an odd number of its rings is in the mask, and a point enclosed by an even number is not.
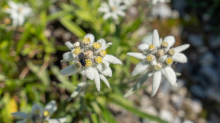
{"type": "Polygon", "coordinates": [[[9,1],[8,5],[10,8],[7,8],[5,11],[10,14],[13,22],[13,26],[22,26],[25,20],[25,17],[31,14],[31,8],[23,5],[21,3],[14,3],[9,1]]]}

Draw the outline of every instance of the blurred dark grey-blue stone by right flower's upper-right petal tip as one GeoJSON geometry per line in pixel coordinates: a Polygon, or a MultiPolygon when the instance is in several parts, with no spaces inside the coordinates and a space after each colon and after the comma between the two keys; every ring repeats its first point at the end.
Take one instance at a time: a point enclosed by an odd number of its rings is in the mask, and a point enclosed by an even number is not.
{"type": "Polygon", "coordinates": [[[200,47],[203,45],[203,39],[200,35],[190,34],[188,38],[189,42],[195,47],[200,47]]]}

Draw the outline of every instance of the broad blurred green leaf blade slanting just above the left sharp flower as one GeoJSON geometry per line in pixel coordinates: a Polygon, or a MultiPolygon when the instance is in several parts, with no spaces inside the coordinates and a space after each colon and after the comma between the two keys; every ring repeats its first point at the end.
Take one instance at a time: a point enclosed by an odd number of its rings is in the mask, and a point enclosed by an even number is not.
{"type": "Polygon", "coordinates": [[[68,29],[70,30],[73,34],[75,34],[79,38],[83,38],[86,33],[73,21],[67,18],[62,18],[60,19],[60,22],[68,29]]]}

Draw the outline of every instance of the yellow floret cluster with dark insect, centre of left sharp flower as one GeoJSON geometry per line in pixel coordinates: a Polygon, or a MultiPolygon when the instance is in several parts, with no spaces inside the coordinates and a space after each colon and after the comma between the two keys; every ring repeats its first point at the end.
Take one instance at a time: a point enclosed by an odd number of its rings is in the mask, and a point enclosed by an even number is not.
{"type": "Polygon", "coordinates": [[[101,49],[102,46],[99,42],[93,42],[91,45],[90,38],[85,37],[82,42],[75,42],[73,46],[72,53],[78,56],[78,62],[75,64],[77,69],[100,64],[106,55],[106,50],[101,49]]]}

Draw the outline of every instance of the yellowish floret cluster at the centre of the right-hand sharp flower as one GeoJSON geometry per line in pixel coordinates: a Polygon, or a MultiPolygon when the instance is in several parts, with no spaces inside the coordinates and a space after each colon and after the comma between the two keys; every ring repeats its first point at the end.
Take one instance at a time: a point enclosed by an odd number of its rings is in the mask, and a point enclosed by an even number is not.
{"type": "Polygon", "coordinates": [[[168,49],[168,46],[168,42],[162,42],[158,48],[153,44],[149,45],[147,61],[154,65],[155,70],[160,70],[163,66],[172,65],[172,56],[175,54],[175,51],[168,49]]]}

